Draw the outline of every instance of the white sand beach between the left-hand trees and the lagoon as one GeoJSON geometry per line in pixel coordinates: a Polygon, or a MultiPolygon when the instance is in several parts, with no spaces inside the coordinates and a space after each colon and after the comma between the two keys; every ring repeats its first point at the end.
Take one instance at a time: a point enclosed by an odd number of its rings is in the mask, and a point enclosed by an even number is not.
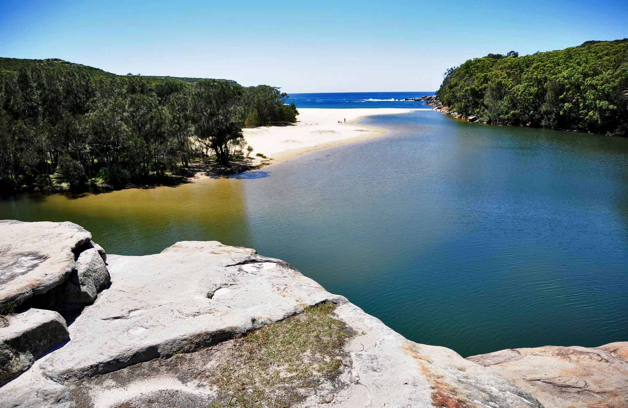
{"type": "Polygon", "coordinates": [[[244,138],[254,149],[251,156],[262,153],[272,163],[278,163],[310,151],[382,136],[386,134],[386,129],[360,126],[355,122],[364,116],[403,114],[411,110],[413,109],[299,109],[296,124],[244,129],[244,138]],[[347,123],[344,122],[345,119],[347,123]]]}

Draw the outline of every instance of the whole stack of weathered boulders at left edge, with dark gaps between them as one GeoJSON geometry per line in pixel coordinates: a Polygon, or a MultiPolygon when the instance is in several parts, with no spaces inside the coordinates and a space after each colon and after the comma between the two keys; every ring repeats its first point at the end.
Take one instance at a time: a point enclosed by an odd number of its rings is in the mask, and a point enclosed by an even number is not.
{"type": "Polygon", "coordinates": [[[109,283],[104,259],[80,225],[0,221],[0,385],[68,339],[66,321],[109,283]]]}

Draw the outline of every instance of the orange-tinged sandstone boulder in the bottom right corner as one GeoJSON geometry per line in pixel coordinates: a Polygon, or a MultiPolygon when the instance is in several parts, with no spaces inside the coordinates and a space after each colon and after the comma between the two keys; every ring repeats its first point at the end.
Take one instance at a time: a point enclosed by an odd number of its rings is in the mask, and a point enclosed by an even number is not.
{"type": "Polygon", "coordinates": [[[628,341],[587,348],[514,348],[468,357],[546,408],[628,407],[628,341]]]}

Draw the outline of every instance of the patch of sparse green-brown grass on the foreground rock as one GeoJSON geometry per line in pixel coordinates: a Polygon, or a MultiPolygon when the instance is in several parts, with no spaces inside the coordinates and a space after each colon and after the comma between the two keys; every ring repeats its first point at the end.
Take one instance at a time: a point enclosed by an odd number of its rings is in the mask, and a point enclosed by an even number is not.
{"type": "Polygon", "coordinates": [[[352,333],[335,308],[318,304],[236,339],[233,354],[209,374],[218,395],[211,407],[290,407],[337,377],[352,333]]]}

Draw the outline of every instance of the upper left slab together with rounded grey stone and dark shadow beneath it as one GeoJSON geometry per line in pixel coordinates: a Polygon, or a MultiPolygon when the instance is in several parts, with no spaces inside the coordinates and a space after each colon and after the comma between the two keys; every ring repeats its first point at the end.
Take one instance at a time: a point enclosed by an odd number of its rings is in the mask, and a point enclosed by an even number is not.
{"type": "Polygon", "coordinates": [[[109,282],[104,250],[80,225],[2,220],[0,231],[0,311],[89,304],[109,282]]]}

